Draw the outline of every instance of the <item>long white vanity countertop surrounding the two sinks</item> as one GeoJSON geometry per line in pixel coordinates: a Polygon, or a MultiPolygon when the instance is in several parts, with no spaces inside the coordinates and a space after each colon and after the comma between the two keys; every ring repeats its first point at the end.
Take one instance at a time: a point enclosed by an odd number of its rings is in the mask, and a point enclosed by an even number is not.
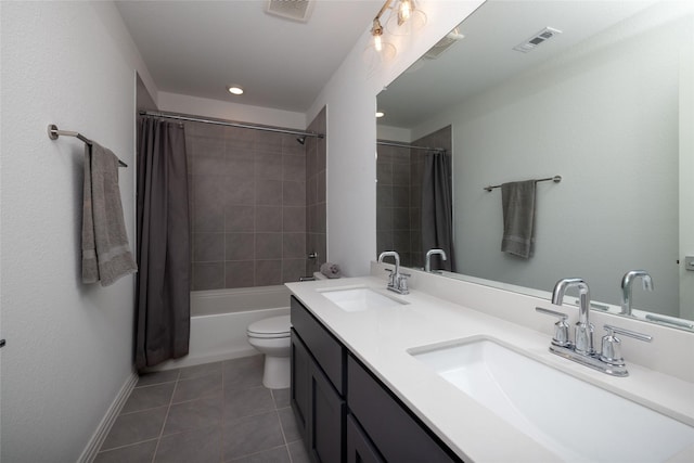
{"type": "MultiPolygon", "coordinates": [[[[694,384],[690,382],[629,362],[630,376],[608,376],[549,352],[551,336],[545,333],[416,290],[406,296],[386,292],[384,280],[374,276],[286,286],[465,461],[558,462],[562,458],[438,376],[408,349],[472,336],[497,338],[542,363],[694,426],[694,384]],[[349,286],[367,286],[408,304],[396,309],[346,312],[320,293],[349,286]]],[[[548,324],[552,323],[548,319],[548,324]]],[[[694,447],[673,461],[693,460],[694,447]]]]}

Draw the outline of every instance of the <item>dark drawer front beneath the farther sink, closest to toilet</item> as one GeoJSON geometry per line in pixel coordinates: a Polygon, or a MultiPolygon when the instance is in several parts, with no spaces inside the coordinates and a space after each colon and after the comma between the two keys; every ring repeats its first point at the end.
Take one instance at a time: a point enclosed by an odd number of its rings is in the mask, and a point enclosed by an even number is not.
{"type": "Polygon", "coordinates": [[[292,326],[333,384],[345,395],[345,358],[343,345],[292,296],[292,326]]]}

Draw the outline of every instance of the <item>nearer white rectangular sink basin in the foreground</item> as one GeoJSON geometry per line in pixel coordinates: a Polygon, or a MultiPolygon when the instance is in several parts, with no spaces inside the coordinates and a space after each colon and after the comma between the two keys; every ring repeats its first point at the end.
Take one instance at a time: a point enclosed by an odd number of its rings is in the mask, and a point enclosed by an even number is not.
{"type": "Polygon", "coordinates": [[[694,427],[490,338],[408,352],[565,461],[661,462],[694,445],[694,427]]]}

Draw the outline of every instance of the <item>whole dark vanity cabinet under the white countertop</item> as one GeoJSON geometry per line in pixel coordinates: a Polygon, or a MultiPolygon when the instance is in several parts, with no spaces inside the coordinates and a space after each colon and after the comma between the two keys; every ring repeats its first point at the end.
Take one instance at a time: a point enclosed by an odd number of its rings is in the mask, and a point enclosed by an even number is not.
{"type": "Polygon", "coordinates": [[[311,461],[461,460],[294,296],[292,408],[311,461]]]}

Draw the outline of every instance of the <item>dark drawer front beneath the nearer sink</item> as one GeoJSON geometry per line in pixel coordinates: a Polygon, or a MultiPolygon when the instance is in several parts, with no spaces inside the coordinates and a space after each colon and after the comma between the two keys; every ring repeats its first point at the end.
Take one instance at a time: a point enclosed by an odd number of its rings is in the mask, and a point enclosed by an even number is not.
{"type": "MultiPolygon", "coordinates": [[[[347,403],[383,458],[397,463],[460,462],[354,357],[347,358],[347,403]]],[[[464,417],[461,417],[463,420],[464,417]]]]}

